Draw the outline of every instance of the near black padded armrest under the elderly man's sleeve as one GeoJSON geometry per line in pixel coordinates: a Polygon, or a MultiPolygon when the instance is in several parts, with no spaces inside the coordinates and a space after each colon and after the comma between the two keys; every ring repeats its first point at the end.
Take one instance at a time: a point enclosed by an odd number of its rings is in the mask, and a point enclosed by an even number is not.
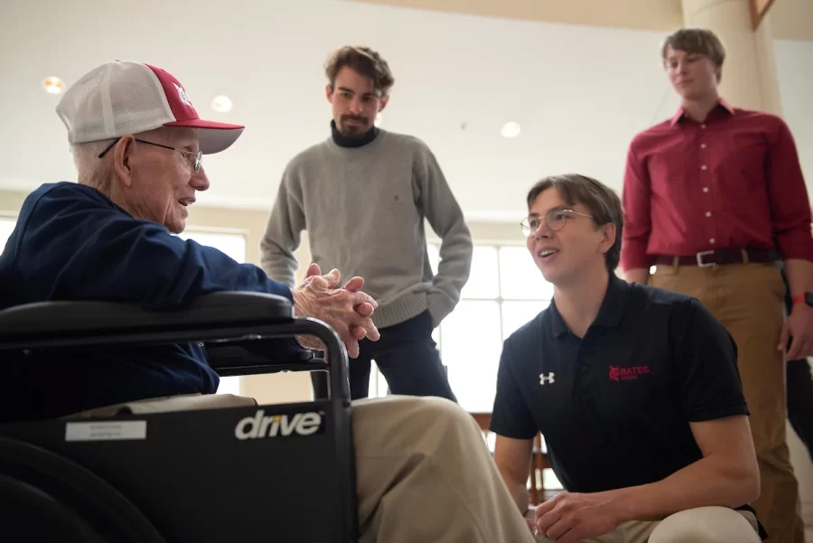
{"type": "Polygon", "coordinates": [[[183,308],[142,309],[116,302],[42,302],[0,311],[0,340],[70,332],[136,332],[244,323],[291,322],[294,306],[279,295],[216,292],[183,308]]]}

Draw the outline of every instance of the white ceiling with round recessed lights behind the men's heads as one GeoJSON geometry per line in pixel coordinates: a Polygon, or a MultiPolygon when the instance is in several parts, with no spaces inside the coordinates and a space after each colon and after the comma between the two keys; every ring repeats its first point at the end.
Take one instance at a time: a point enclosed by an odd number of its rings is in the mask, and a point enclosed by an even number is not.
{"type": "Polygon", "coordinates": [[[0,189],[72,179],[58,97],[109,59],[139,60],[182,81],[203,116],[248,126],[206,157],[201,205],[269,208],[285,164],[328,136],[322,63],[369,44],[396,77],[382,127],[434,150],[472,220],[515,220],[540,176],[578,171],[620,188],[634,134],[677,99],[659,66],[663,31],[494,19],[327,0],[138,3],[3,0],[0,189]],[[237,8],[236,6],[239,6],[237,8]],[[224,94],[228,114],[210,101],[224,94]],[[507,121],[521,133],[500,136],[507,121]],[[463,129],[464,127],[464,129],[463,129]]]}

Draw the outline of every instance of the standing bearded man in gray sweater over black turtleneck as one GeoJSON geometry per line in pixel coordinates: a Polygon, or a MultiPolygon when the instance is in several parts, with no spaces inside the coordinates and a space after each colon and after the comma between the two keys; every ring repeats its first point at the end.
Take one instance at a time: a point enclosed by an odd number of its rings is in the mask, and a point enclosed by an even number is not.
{"type": "MultiPolygon", "coordinates": [[[[365,278],[365,292],[378,301],[373,321],[381,338],[362,340],[350,362],[353,399],[368,396],[370,360],[393,394],[455,399],[432,331],[469,278],[472,236],[463,211],[423,142],[375,126],[394,83],[376,51],[342,47],[325,74],[332,136],[285,168],[261,244],[262,267],[294,286],[294,250],[306,229],[314,263],[365,278]],[[442,239],[435,276],[425,219],[442,239]]],[[[326,382],[313,380],[322,396],[326,382]]]]}

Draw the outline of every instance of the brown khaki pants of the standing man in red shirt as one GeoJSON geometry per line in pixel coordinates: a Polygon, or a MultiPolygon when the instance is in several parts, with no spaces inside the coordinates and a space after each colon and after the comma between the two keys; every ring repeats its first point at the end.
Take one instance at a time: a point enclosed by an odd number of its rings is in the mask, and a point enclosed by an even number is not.
{"type": "Polygon", "coordinates": [[[799,485],[785,441],[785,363],[777,350],[785,286],[779,269],[770,263],[659,265],[649,284],[696,297],[734,337],[762,478],[753,507],[772,543],[804,543],[799,485]]]}

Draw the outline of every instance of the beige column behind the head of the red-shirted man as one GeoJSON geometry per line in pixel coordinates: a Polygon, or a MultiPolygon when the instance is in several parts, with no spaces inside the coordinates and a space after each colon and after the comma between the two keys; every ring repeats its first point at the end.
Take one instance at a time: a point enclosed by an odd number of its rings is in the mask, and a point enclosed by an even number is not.
{"type": "Polygon", "coordinates": [[[683,0],[683,21],[708,28],[723,41],[720,93],[726,100],[734,107],[781,114],[770,12],[754,32],[751,0],[683,0]]]}

